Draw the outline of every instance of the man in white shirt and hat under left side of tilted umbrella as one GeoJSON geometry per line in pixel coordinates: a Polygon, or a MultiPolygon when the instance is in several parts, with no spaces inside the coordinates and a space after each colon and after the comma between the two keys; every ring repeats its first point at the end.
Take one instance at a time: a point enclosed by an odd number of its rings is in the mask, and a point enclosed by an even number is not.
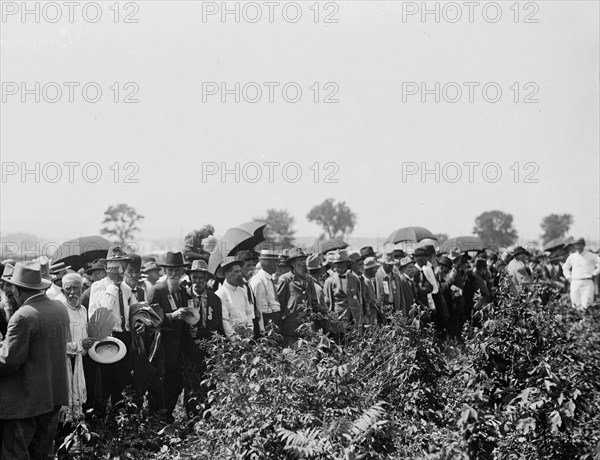
{"type": "Polygon", "coordinates": [[[217,271],[217,277],[225,278],[216,294],[222,302],[223,329],[229,339],[241,335],[251,337],[254,329],[254,305],[248,300],[244,288],[242,266],[244,261],[236,256],[226,257],[217,271]]]}

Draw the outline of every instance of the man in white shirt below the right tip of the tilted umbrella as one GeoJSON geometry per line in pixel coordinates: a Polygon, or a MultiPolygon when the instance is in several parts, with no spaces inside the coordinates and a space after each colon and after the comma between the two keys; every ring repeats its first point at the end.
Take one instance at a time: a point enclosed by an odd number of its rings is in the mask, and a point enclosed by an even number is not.
{"type": "Polygon", "coordinates": [[[277,270],[279,253],[270,249],[260,251],[260,270],[250,279],[256,305],[262,316],[261,329],[273,321],[277,331],[281,331],[281,307],[275,295],[273,273],[277,270]]]}

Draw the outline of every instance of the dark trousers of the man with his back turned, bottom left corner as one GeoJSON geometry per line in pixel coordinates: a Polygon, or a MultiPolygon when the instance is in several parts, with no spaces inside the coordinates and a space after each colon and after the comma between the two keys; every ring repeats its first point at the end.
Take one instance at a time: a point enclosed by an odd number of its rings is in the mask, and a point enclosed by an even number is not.
{"type": "Polygon", "coordinates": [[[54,437],[60,406],[52,412],[17,420],[4,420],[0,460],[54,458],[54,437]]]}

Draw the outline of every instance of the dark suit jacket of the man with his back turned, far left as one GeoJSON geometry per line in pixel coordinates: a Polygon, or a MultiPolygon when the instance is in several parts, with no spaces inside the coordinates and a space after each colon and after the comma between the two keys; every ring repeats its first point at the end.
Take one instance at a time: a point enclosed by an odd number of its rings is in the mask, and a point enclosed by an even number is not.
{"type": "Polygon", "coordinates": [[[30,418],[69,404],[67,307],[46,294],[10,318],[0,348],[0,419],[30,418]]]}

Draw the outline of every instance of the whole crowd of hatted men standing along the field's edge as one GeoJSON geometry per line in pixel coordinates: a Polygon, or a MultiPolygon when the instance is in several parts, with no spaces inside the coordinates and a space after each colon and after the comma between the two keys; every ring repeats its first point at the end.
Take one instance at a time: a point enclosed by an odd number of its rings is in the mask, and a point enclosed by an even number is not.
{"type": "MultiPolygon", "coordinates": [[[[4,261],[0,308],[0,458],[51,458],[59,423],[105,415],[131,392],[148,415],[173,422],[180,396],[189,418],[206,407],[208,347],[274,331],[280,346],[311,322],[336,340],[345,328],[385,324],[394,312],[420,312],[437,338],[460,341],[477,302],[493,300],[506,272],[513,286],[541,282],[570,290],[585,310],[598,295],[598,255],[579,239],[570,254],[551,257],[523,247],[498,255],[434,246],[377,254],[372,247],[307,254],[300,247],[239,251],[209,271],[214,229],[185,239],[164,261],[115,246],[79,272],[45,258],[4,261]],[[92,359],[101,338],[97,312],[112,318],[112,337],[125,345],[117,361],[92,359]],[[94,323],[95,324],[95,323],[94,323]]],[[[547,301],[542,299],[543,302],[547,301]]],[[[360,334],[359,334],[360,336],[360,334]]]]}

